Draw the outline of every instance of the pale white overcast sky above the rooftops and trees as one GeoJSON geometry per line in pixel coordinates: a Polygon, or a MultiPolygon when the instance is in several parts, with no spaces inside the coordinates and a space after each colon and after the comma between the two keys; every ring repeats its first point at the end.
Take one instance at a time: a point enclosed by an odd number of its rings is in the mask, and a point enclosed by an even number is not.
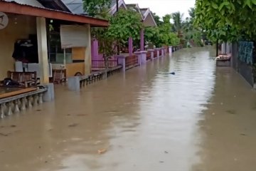
{"type": "Polygon", "coordinates": [[[181,11],[184,18],[188,15],[188,9],[193,7],[196,0],[124,0],[126,4],[139,4],[140,8],[149,8],[159,16],[181,11]]]}

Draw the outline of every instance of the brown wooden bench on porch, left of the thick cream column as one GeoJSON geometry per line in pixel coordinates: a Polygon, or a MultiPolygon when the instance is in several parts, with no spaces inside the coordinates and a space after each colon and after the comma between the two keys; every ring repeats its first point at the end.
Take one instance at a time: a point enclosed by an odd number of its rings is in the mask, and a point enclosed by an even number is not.
{"type": "Polygon", "coordinates": [[[7,77],[20,84],[20,87],[37,86],[38,80],[35,72],[8,71],[7,77]]]}

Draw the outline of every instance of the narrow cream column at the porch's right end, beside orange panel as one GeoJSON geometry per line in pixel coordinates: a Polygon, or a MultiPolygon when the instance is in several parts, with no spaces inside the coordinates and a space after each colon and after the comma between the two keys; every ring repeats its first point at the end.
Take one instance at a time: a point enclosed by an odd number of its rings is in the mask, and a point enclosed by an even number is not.
{"type": "Polygon", "coordinates": [[[91,73],[92,68],[92,51],[91,51],[91,36],[90,36],[90,24],[86,24],[86,33],[87,33],[87,47],[85,49],[85,75],[91,73]]]}

